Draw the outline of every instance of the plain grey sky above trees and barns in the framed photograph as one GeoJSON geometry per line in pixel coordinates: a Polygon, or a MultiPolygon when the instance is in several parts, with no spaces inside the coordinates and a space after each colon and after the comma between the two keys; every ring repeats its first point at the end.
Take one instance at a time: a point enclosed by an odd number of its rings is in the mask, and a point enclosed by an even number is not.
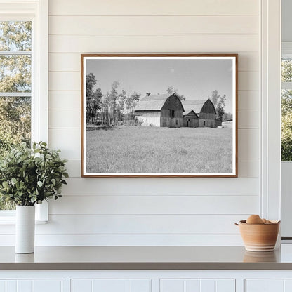
{"type": "Polygon", "coordinates": [[[232,60],[230,59],[91,59],[86,74],[93,73],[103,94],[113,81],[128,94],[164,94],[169,86],[178,89],[186,100],[204,100],[217,90],[226,95],[225,112],[232,112],[232,60]]]}

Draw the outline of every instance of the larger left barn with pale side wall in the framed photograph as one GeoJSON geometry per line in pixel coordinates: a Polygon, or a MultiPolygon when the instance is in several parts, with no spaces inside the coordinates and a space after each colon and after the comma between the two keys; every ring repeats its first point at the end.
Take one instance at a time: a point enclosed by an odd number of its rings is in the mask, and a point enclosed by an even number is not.
{"type": "Polygon", "coordinates": [[[183,112],[182,102],[175,93],[146,95],[135,107],[135,117],[142,126],[180,128],[183,112]]]}

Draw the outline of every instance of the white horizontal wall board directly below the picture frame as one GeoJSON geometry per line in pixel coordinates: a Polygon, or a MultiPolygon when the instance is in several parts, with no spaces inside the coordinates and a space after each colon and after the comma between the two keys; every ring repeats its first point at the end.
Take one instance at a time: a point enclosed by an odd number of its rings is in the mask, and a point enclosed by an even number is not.
{"type": "Polygon", "coordinates": [[[258,178],[68,178],[67,183],[63,186],[63,194],[76,196],[258,195],[258,178]],[[152,185],[155,187],[150,191],[152,185]]]}

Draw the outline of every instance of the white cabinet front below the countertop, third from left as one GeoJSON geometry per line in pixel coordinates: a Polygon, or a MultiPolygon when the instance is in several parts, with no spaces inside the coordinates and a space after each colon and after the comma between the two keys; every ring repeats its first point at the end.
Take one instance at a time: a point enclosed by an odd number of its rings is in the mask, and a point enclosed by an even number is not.
{"type": "Polygon", "coordinates": [[[161,279],[160,292],[235,292],[235,280],[161,279]]]}

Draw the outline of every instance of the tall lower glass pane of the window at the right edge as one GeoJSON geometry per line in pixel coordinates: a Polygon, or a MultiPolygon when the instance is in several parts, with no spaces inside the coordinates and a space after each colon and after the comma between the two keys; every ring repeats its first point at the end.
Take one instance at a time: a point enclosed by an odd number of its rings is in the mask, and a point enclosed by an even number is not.
{"type": "Polygon", "coordinates": [[[292,89],[282,89],[281,114],[281,160],[292,161],[292,89]]]}

